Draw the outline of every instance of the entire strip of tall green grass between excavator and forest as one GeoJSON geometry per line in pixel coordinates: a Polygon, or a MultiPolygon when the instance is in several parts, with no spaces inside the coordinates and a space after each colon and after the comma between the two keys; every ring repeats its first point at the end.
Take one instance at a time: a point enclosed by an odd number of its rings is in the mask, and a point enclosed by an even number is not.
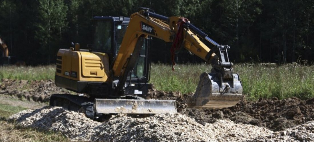
{"type": "MultiPolygon", "coordinates": [[[[191,93],[196,89],[199,75],[204,71],[210,72],[210,69],[207,64],[178,64],[172,71],[170,65],[152,64],[150,83],[159,90],[191,93]]],[[[314,66],[236,64],[234,70],[240,75],[246,99],[314,97],[314,66]]],[[[0,67],[0,79],[47,80],[54,79],[54,74],[54,65],[0,67]]]]}

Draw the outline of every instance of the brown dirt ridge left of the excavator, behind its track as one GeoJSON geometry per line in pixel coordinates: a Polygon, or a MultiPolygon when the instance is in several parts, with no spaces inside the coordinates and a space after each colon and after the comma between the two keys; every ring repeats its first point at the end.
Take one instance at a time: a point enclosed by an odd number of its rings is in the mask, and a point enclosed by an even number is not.
{"type": "Polygon", "coordinates": [[[39,102],[48,102],[51,94],[70,93],[66,89],[57,87],[53,80],[27,81],[2,79],[0,94],[14,95],[39,102]]]}

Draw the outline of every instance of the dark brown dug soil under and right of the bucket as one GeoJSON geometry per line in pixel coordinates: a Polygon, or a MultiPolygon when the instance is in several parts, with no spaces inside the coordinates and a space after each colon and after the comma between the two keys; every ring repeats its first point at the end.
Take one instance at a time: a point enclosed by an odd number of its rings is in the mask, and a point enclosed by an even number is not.
{"type": "Polygon", "coordinates": [[[242,100],[233,107],[220,110],[187,109],[186,100],[191,95],[151,89],[146,98],[177,100],[178,112],[189,115],[201,124],[214,123],[218,119],[230,119],[236,123],[252,124],[279,131],[314,119],[314,99],[272,98],[260,99],[256,102],[242,100]]]}

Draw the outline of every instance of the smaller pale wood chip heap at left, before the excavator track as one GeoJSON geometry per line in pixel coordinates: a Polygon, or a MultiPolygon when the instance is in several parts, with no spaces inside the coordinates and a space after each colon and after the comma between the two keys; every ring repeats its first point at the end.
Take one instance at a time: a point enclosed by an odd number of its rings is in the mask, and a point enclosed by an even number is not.
{"type": "Polygon", "coordinates": [[[67,111],[60,107],[46,106],[36,110],[23,110],[8,118],[24,128],[36,128],[62,132],[73,140],[89,141],[99,131],[99,122],[84,114],[67,111]]]}

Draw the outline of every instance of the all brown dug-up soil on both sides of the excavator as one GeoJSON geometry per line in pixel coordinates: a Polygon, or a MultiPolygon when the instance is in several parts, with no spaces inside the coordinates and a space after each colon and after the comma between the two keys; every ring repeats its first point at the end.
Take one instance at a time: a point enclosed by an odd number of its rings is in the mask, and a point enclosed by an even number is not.
{"type": "MultiPolygon", "coordinates": [[[[3,79],[0,83],[0,94],[16,95],[29,100],[47,102],[51,94],[69,93],[55,86],[52,80],[24,81],[3,79]]],[[[188,109],[187,98],[192,94],[164,92],[150,89],[146,99],[174,99],[177,101],[178,113],[194,118],[199,124],[214,123],[219,119],[230,119],[235,123],[251,124],[273,131],[304,124],[314,119],[314,99],[284,100],[260,99],[256,102],[242,100],[236,106],[220,110],[188,109]]]]}

